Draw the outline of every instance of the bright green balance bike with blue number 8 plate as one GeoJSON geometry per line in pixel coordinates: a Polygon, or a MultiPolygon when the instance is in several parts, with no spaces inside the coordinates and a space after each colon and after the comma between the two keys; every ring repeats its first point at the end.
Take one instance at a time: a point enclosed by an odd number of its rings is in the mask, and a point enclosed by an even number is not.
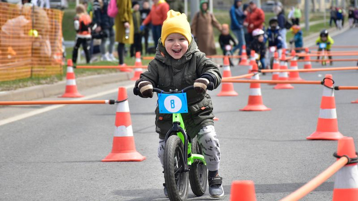
{"type": "Polygon", "coordinates": [[[164,151],[164,179],[171,201],[187,199],[189,182],[191,190],[196,196],[204,195],[207,186],[207,168],[201,146],[197,143],[196,137],[191,139],[185,133],[185,126],[180,114],[180,112],[187,113],[185,92],[191,89],[194,87],[188,86],[180,91],[164,92],[161,89],[153,88],[153,92],[158,93],[159,112],[163,113],[162,111],[168,108],[165,113],[173,115],[173,127],[166,134],[164,151]],[[162,99],[161,96],[164,95],[167,95],[167,98],[162,99]],[[182,98],[181,101],[178,97],[182,98]],[[161,105],[164,106],[163,110],[161,105]],[[178,106],[181,108],[184,106],[186,111],[185,109],[180,111],[175,109],[178,106]]]}

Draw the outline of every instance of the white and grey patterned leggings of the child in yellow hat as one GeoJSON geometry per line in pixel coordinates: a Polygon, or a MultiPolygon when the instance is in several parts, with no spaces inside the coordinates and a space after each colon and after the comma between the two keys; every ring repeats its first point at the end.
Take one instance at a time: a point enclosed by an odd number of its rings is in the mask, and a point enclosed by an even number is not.
{"type": "MultiPolygon", "coordinates": [[[[209,171],[219,170],[220,164],[220,144],[216,137],[214,126],[203,127],[197,134],[197,142],[201,145],[203,155],[206,160],[206,167],[209,171]]],[[[164,167],[164,139],[159,139],[158,158],[164,167]]]]}

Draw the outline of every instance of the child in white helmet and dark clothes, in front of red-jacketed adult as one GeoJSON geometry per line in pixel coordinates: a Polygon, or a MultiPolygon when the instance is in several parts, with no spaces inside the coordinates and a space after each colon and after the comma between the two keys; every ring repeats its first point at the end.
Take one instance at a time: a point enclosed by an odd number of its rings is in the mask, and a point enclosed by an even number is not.
{"type": "MultiPolygon", "coordinates": [[[[264,34],[265,31],[262,29],[255,29],[253,31],[253,37],[254,40],[250,44],[251,50],[255,50],[255,53],[257,53],[260,56],[260,63],[259,65],[260,69],[265,69],[265,55],[266,55],[266,45],[264,41],[264,34]]],[[[265,74],[265,73],[263,73],[265,74]]]]}

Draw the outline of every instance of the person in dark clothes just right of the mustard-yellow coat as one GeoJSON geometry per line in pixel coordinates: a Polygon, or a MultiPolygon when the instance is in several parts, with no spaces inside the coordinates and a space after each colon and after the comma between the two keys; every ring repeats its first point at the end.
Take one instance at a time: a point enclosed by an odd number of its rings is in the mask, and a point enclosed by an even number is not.
{"type": "Polygon", "coordinates": [[[134,57],[136,52],[140,52],[142,54],[142,32],[140,30],[142,19],[139,12],[139,3],[137,1],[132,2],[132,8],[134,24],[134,43],[130,47],[130,56],[134,57]]]}

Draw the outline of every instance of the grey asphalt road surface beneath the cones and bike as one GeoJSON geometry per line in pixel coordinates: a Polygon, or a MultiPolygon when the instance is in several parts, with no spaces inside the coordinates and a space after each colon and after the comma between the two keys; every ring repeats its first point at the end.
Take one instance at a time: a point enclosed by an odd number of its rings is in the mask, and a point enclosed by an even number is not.
{"type": "MultiPolygon", "coordinates": [[[[336,45],[358,45],[358,30],[334,37],[336,45]]],[[[299,64],[302,68],[303,63],[299,64]]],[[[334,67],[356,66],[336,62],[334,67]]],[[[313,67],[320,67],[313,63],[313,67]]],[[[248,67],[232,68],[233,75],[248,67]]],[[[331,73],[337,85],[358,85],[358,70],[300,73],[306,80],[322,80],[331,73]]],[[[267,74],[262,79],[270,79],[267,74]]],[[[121,83],[130,86],[133,82],[121,83]],[[129,85],[128,85],[129,84],[129,85]]],[[[83,91],[85,95],[115,89],[111,84],[83,91]]],[[[316,130],[323,86],[295,85],[274,90],[262,84],[267,112],[241,112],[247,105],[249,84],[235,84],[236,97],[217,97],[211,91],[215,129],[220,140],[225,196],[234,180],[253,180],[258,201],[276,201],[330,166],[337,141],[306,140],[316,130]]],[[[116,106],[68,105],[0,126],[1,201],[166,201],[162,168],[157,158],[156,99],[142,99],[128,88],[137,151],[142,162],[100,162],[110,151],[116,106]]],[[[92,99],[116,99],[111,92],[92,99]]],[[[339,130],[358,144],[357,91],[335,91],[339,130]]],[[[55,99],[55,98],[52,98],[55,99]]],[[[1,107],[11,118],[48,106],[1,107]]],[[[332,200],[334,177],[303,201],[332,200]]],[[[208,193],[189,199],[212,200],[208,193]]]]}

